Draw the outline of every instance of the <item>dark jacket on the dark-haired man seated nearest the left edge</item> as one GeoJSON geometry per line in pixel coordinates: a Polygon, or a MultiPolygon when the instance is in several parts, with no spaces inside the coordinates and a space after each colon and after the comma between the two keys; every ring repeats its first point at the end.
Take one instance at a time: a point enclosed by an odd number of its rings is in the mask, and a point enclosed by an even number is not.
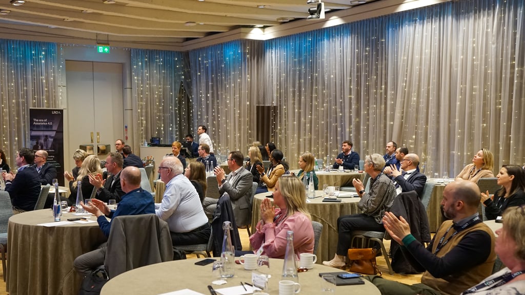
{"type": "Polygon", "coordinates": [[[5,191],[9,193],[13,206],[33,211],[40,195],[40,178],[35,167],[27,166],[19,170],[12,182],[6,182],[5,191]]]}

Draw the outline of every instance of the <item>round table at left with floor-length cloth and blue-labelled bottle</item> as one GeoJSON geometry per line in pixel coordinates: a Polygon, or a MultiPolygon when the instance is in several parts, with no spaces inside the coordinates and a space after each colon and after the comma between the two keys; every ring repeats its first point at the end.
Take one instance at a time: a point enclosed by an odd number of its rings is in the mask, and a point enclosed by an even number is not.
{"type": "MultiPolygon", "coordinates": [[[[63,213],[61,220],[78,217],[63,213]]],[[[90,219],[95,220],[95,216],[90,219]]],[[[78,294],[81,278],[73,261],[106,241],[98,223],[45,227],[51,209],[29,211],[9,218],[7,282],[10,295],[78,294]]]]}

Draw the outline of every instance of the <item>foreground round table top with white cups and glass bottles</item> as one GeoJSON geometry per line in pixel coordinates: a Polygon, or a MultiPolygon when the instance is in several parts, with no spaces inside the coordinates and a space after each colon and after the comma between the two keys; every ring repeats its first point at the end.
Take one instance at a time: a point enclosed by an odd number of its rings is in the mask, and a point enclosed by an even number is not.
{"type": "MultiPolygon", "coordinates": [[[[162,262],[136,268],[109,280],[100,292],[101,295],[156,295],[182,289],[209,294],[208,285],[216,280],[212,276],[212,265],[195,265],[197,259],[176,260],[162,262]]],[[[282,259],[270,259],[269,293],[279,293],[279,280],[282,273],[282,259]]],[[[251,283],[251,271],[244,270],[243,265],[235,265],[235,277],[228,279],[224,285],[212,285],[217,290],[220,288],[240,286],[240,282],[251,283]]],[[[299,272],[300,294],[321,293],[320,272],[340,271],[323,265],[314,265],[313,269],[299,272]]],[[[373,295],[380,294],[371,282],[364,280],[364,285],[337,286],[333,294],[373,295]]],[[[218,292],[217,292],[218,293],[218,292]]]]}

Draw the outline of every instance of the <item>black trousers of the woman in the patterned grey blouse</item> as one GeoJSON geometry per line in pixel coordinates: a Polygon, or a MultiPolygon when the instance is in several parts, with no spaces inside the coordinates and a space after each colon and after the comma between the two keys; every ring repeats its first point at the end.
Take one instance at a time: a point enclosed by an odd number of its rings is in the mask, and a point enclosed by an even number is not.
{"type": "Polygon", "coordinates": [[[373,230],[385,231],[383,224],[376,223],[374,217],[366,214],[343,215],[337,218],[339,239],[337,241],[337,255],[346,256],[350,243],[352,243],[352,231],[373,230]]]}

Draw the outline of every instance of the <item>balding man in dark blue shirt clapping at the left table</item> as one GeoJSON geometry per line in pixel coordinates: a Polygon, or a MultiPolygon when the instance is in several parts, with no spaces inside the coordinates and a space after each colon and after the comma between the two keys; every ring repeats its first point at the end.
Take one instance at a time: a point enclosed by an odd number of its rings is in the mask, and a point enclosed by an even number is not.
{"type": "MultiPolygon", "coordinates": [[[[120,155],[120,153],[112,154],[120,155]]],[[[108,221],[106,217],[113,219],[117,216],[155,213],[155,204],[151,194],[140,187],[141,179],[141,173],[137,167],[130,166],[122,170],[119,181],[125,194],[122,196],[117,210],[110,210],[106,203],[98,199],[91,199],[88,204],[81,203],[86,212],[97,216],[99,227],[106,237],[109,237],[111,229],[111,220],[108,221]]],[[[104,264],[107,248],[107,243],[103,243],[98,249],[82,254],[75,259],[74,266],[82,277],[89,276],[92,270],[104,264]]]]}

